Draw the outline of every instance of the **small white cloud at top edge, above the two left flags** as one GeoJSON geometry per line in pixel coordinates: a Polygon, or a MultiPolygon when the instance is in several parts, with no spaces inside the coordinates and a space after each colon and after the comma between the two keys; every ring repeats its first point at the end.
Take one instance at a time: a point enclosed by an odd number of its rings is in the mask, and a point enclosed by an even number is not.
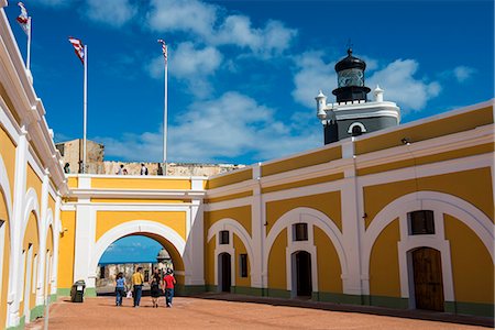
{"type": "Polygon", "coordinates": [[[129,0],[87,0],[86,15],[96,22],[120,28],[138,13],[138,8],[129,0]]]}

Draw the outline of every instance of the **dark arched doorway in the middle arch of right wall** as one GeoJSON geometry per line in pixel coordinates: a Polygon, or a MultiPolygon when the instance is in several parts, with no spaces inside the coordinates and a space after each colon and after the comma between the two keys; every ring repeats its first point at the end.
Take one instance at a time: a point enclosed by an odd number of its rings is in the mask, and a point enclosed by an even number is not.
{"type": "Polygon", "coordinates": [[[311,297],[311,254],[297,251],[292,255],[293,297],[311,297]]]}

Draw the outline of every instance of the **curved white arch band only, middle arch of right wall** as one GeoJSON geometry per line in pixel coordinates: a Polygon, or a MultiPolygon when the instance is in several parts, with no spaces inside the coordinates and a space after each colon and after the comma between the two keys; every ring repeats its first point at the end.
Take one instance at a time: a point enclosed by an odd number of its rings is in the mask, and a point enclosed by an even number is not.
{"type": "MultiPolygon", "coordinates": [[[[272,245],[275,242],[275,239],[285,228],[288,228],[292,224],[299,222],[304,216],[307,216],[304,219],[305,222],[318,227],[330,239],[339,256],[340,266],[342,268],[342,276],[345,276],[348,274],[348,261],[342,244],[342,233],[340,232],[337,224],[332,221],[332,219],[330,219],[327,215],[322,213],[321,211],[306,207],[298,207],[292,209],[290,211],[287,211],[276,220],[275,224],[272,227],[268,235],[266,237],[266,245],[265,245],[266,250],[265,254],[263,255],[264,270],[267,270],[268,267],[268,256],[272,250],[272,245]]],[[[315,285],[315,287],[317,286],[315,285]]]]}

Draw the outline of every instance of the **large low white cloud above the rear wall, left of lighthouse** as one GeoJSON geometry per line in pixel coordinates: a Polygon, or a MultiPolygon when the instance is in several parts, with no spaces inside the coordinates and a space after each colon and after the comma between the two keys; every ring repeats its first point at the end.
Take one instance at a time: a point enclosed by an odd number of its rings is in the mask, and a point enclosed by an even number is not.
{"type": "MultiPolygon", "coordinates": [[[[293,118],[307,118],[306,113],[293,118]]],[[[302,122],[305,122],[302,120],[302,122]]],[[[321,145],[318,123],[308,128],[300,122],[275,119],[275,110],[258,105],[239,92],[226,92],[219,99],[193,103],[169,125],[168,157],[173,162],[229,162],[242,156],[271,160],[321,145]],[[309,133],[308,133],[309,132],[309,133]]],[[[106,154],[122,160],[157,161],[162,134],[127,134],[120,140],[96,138],[105,143],[106,154]]]]}

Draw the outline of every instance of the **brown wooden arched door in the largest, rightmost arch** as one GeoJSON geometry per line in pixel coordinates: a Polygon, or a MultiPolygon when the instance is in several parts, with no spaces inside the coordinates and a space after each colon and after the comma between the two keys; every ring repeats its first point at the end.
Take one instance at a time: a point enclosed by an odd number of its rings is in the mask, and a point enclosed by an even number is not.
{"type": "Polygon", "coordinates": [[[413,252],[416,308],[443,311],[440,251],[420,248],[413,252]]]}

